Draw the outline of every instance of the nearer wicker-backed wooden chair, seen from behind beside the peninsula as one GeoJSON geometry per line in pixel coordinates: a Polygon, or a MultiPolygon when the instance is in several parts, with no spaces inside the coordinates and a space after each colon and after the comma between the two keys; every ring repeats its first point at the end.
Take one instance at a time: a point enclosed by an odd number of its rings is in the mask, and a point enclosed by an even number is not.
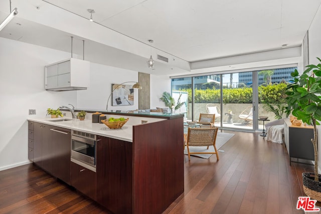
{"type": "Polygon", "coordinates": [[[219,154],[217,152],[215,142],[218,128],[189,128],[188,133],[184,134],[184,149],[187,146],[189,160],[191,160],[190,154],[216,154],[217,160],[219,160],[219,154]],[[215,152],[190,152],[190,146],[214,146],[215,152]]]}

